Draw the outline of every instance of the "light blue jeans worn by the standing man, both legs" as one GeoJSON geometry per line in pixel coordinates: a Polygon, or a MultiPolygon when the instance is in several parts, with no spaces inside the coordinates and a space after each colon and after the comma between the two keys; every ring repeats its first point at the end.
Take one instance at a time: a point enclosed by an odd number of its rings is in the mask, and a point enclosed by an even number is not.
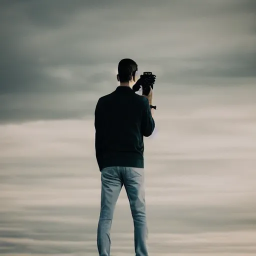
{"type": "Polygon", "coordinates": [[[99,256],[110,255],[110,228],[122,185],[125,187],[133,218],[135,255],[148,256],[144,169],[122,166],[106,167],[101,170],[101,203],[97,227],[99,256]]]}

